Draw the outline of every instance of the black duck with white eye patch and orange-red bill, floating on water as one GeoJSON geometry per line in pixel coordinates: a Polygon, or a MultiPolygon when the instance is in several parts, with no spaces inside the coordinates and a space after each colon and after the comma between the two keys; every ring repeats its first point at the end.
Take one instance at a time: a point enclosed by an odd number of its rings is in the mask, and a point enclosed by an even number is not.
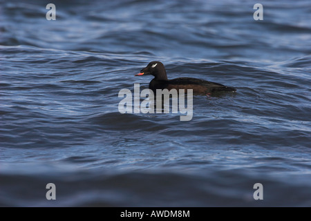
{"type": "Polygon", "coordinates": [[[153,93],[156,93],[156,89],[165,89],[171,90],[175,88],[176,90],[193,89],[193,93],[196,95],[207,95],[217,92],[234,92],[235,88],[224,86],[223,84],[214,83],[211,81],[205,81],[197,78],[191,77],[179,77],[176,79],[167,79],[167,72],[164,68],[164,65],[160,61],[151,61],[146,68],[140,70],[140,73],[135,76],[140,75],[153,75],[154,78],[149,84],[149,89],[153,90],[153,93]]]}

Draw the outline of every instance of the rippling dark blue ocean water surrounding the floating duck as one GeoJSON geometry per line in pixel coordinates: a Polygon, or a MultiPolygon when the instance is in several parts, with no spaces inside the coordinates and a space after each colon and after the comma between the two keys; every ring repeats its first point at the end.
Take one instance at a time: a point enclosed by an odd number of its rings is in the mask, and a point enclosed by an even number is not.
{"type": "Polygon", "coordinates": [[[0,1],[0,206],[311,205],[310,1],[48,3],[0,1]],[[121,114],[150,61],[237,91],[121,114]]]}

